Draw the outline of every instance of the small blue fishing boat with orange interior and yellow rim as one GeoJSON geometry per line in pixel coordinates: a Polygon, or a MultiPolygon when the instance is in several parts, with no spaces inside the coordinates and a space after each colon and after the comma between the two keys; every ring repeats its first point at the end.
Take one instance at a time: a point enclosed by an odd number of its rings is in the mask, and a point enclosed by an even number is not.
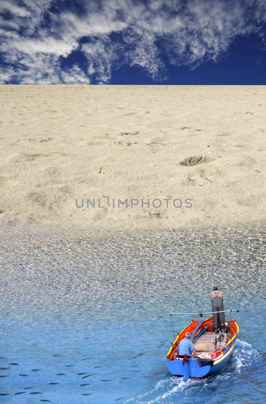
{"type": "Polygon", "coordinates": [[[230,313],[230,320],[226,321],[225,328],[215,330],[213,328],[213,316],[206,320],[192,322],[184,328],[179,335],[175,335],[173,326],[173,315],[193,315],[200,316],[221,313],[221,311],[212,311],[210,313],[170,313],[173,334],[175,340],[167,353],[167,368],[172,375],[182,377],[184,381],[188,379],[202,380],[210,377],[221,370],[228,361],[234,349],[236,337],[239,333],[239,327],[236,320],[232,320],[231,313],[238,313],[239,310],[227,310],[224,313],[230,313]],[[186,332],[190,332],[197,356],[179,357],[177,346],[185,338],[186,332]],[[200,350],[199,350],[200,349],[200,350]]]}

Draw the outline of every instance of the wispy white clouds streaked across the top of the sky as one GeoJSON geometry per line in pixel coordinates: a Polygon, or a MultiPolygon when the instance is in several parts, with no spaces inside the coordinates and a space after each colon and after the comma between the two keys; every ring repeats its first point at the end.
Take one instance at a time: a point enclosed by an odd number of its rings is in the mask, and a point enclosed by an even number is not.
{"type": "MultiPolygon", "coordinates": [[[[164,58],[191,68],[226,55],[236,36],[264,43],[264,0],[0,2],[0,82],[108,83],[121,65],[167,77],[164,58]],[[71,62],[78,52],[79,60],[71,62]],[[164,55],[164,57],[162,57],[164,55]],[[72,63],[72,64],[71,64],[72,63]]],[[[76,59],[78,59],[76,57],[76,59]]]]}

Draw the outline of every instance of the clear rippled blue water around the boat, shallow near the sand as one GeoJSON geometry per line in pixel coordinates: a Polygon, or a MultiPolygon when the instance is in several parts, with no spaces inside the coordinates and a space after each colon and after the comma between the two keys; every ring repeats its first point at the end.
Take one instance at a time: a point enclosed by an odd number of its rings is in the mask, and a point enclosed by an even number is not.
{"type": "Polygon", "coordinates": [[[1,403],[266,401],[265,230],[0,236],[1,403]],[[216,284],[239,339],[223,370],[184,383],[169,312],[211,311],[216,284]]]}

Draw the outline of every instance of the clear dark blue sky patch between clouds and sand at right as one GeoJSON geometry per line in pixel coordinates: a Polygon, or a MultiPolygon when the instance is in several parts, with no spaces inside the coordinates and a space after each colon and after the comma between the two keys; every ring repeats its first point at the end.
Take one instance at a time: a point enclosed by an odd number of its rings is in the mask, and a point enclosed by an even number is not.
{"type": "Polygon", "coordinates": [[[203,62],[193,70],[164,60],[168,80],[154,81],[140,68],[123,66],[112,74],[110,84],[266,85],[266,51],[255,35],[236,38],[219,61],[203,62]]]}

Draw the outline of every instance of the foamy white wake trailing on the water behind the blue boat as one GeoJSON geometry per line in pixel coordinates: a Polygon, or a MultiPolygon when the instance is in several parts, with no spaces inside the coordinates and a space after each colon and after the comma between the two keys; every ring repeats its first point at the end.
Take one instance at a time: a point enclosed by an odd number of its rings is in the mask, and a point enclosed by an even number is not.
{"type": "MultiPolygon", "coordinates": [[[[154,388],[142,395],[130,398],[125,403],[131,404],[185,404],[197,400],[197,403],[206,402],[206,393],[209,399],[215,398],[216,403],[217,392],[222,389],[224,383],[230,384],[238,381],[241,378],[241,373],[248,371],[249,366],[259,366],[261,356],[252,345],[241,340],[236,341],[230,361],[225,368],[217,372],[209,379],[202,381],[183,381],[183,377],[177,378],[174,376],[165,377],[158,381],[154,388]]],[[[221,396],[223,400],[223,396],[221,396]]],[[[221,401],[222,403],[223,401],[221,401]]]]}

